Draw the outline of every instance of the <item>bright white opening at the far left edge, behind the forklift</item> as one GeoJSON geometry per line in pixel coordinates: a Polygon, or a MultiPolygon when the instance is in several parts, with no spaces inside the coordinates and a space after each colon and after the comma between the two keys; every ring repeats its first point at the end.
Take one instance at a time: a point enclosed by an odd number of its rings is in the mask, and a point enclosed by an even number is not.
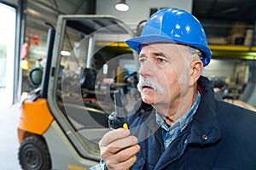
{"type": "Polygon", "coordinates": [[[13,100],[15,17],[15,8],[0,3],[0,93],[5,96],[2,105],[11,105],[13,100]]]}

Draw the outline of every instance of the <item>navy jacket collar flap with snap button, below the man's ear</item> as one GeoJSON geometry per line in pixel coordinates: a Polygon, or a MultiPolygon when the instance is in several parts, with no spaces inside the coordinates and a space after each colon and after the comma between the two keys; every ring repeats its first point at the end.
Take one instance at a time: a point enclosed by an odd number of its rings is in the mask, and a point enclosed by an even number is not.
{"type": "Polygon", "coordinates": [[[202,88],[201,103],[191,122],[189,143],[215,143],[221,138],[221,130],[216,116],[212,83],[206,77],[200,77],[198,85],[202,88]]]}

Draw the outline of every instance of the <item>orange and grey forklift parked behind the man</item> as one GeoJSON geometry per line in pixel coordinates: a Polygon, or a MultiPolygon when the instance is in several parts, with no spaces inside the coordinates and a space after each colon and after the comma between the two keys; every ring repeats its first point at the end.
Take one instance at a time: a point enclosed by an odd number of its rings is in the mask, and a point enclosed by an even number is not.
{"type": "Polygon", "coordinates": [[[29,74],[35,88],[22,101],[22,169],[86,170],[99,163],[98,141],[115,111],[113,93],[121,94],[126,110],[140,98],[137,54],[125,45],[134,36],[113,16],[59,16],[49,28],[44,69],[29,74]]]}

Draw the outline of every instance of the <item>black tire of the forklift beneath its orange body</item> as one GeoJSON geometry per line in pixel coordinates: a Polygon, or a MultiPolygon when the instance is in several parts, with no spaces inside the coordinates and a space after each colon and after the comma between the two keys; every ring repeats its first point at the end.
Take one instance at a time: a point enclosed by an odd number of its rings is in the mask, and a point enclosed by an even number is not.
{"type": "Polygon", "coordinates": [[[49,151],[44,139],[40,136],[31,136],[24,139],[20,144],[18,156],[22,169],[50,169],[49,151]]]}

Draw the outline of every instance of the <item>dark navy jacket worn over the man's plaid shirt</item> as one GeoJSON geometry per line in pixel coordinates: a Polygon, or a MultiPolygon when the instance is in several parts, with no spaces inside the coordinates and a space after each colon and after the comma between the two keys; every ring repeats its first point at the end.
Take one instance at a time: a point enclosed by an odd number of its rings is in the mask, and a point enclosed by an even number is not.
{"type": "Polygon", "coordinates": [[[256,114],[215,99],[206,77],[192,122],[165,150],[155,111],[137,102],[128,124],[141,146],[131,169],[256,169],[256,114]]]}

